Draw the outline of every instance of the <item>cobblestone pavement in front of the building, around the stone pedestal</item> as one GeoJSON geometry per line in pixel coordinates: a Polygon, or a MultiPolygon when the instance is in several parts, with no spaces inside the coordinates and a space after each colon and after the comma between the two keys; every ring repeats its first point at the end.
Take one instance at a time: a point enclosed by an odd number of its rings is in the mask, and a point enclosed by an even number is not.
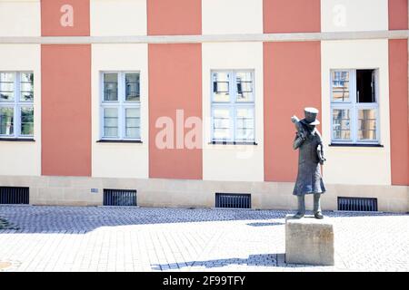
{"type": "Polygon", "coordinates": [[[284,263],[290,211],[0,206],[0,271],[409,271],[409,215],[325,212],[335,266],[284,263]]]}

